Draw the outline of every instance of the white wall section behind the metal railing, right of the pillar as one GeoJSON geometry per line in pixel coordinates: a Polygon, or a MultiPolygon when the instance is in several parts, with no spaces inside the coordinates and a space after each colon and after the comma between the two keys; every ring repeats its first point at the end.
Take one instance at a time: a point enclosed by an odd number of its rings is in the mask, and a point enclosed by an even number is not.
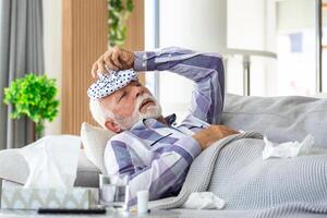
{"type": "MultiPolygon", "coordinates": [[[[276,0],[228,0],[228,47],[276,52],[276,0]]],[[[242,57],[228,66],[228,92],[242,95],[242,57]]],[[[251,95],[276,94],[275,72],[276,60],[251,57],[251,95]]]]}

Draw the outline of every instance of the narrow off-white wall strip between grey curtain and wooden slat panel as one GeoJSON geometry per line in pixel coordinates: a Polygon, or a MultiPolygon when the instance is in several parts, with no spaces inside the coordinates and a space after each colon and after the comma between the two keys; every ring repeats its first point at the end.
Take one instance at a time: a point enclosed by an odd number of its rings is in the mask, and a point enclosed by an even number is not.
{"type": "MultiPolygon", "coordinates": [[[[57,80],[58,99],[61,102],[61,0],[44,0],[45,72],[57,80]]],[[[61,109],[61,106],[59,106],[61,109]]],[[[46,123],[45,134],[61,133],[61,110],[51,122],[46,123]]]]}

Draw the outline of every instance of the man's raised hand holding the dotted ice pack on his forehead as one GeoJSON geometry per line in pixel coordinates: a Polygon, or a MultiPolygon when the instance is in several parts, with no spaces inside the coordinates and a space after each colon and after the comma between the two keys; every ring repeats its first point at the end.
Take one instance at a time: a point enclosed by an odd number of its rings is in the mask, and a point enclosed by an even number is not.
{"type": "Polygon", "coordinates": [[[92,66],[93,77],[107,73],[110,70],[128,70],[134,65],[134,53],[122,48],[109,48],[92,66]]]}

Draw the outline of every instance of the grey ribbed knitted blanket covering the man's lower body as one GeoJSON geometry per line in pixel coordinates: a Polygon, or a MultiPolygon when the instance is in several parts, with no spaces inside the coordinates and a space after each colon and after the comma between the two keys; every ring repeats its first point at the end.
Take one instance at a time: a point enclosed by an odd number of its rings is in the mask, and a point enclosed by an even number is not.
{"type": "Polygon", "coordinates": [[[227,203],[211,211],[215,216],[229,210],[252,211],[251,217],[327,214],[327,154],[263,160],[263,148],[262,135],[254,132],[217,142],[194,159],[178,196],[149,207],[180,208],[191,193],[209,191],[227,203]]]}

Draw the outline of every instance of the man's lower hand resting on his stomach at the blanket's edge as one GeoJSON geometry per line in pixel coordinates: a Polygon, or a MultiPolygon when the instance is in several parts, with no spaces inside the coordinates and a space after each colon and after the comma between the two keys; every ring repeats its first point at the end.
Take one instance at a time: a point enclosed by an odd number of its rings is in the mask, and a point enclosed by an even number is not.
{"type": "Polygon", "coordinates": [[[238,131],[227,128],[226,125],[210,125],[209,128],[195,133],[193,138],[198,142],[202,149],[206,149],[216,141],[238,133],[238,131]]]}

